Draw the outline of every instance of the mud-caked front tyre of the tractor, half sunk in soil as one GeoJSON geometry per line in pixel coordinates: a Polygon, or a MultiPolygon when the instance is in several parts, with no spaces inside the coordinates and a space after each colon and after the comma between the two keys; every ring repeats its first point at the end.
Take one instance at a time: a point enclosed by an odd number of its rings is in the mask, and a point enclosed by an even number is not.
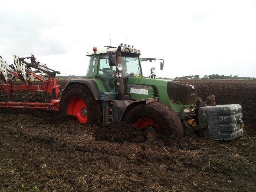
{"type": "Polygon", "coordinates": [[[133,107],[127,113],[124,121],[142,129],[154,127],[156,132],[162,135],[183,136],[180,118],[171,108],[159,102],[133,107]]]}

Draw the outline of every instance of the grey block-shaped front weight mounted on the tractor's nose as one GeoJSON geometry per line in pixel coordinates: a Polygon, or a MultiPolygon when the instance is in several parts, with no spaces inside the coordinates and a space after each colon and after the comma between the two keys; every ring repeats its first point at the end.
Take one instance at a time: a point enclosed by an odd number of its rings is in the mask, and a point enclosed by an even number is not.
{"type": "Polygon", "coordinates": [[[213,140],[233,140],[239,137],[244,133],[241,111],[239,104],[199,108],[199,123],[208,125],[207,128],[200,129],[199,134],[213,140]]]}

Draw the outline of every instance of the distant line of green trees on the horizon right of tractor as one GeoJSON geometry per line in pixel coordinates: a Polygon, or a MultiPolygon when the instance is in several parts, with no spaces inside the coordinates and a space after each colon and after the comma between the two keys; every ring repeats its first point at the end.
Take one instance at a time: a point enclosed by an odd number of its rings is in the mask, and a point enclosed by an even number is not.
{"type": "MultiPolygon", "coordinates": [[[[158,78],[158,79],[170,79],[170,78],[158,78]]],[[[200,78],[199,75],[188,75],[188,76],[182,76],[182,77],[176,77],[176,78],[172,78],[175,80],[178,79],[245,79],[245,80],[256,80],[255,77],[251,78],[251,77],[239,77],[238,75],[218,75],[218,74],[212,74],[212,75],[204,75],[202,78],[200,78]]]]}

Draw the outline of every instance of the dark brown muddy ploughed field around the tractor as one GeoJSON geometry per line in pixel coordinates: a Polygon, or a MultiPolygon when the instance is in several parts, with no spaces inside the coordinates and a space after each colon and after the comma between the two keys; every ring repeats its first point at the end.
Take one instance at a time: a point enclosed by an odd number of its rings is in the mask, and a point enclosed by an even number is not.
{"type": "MultiPolygon", "coordinates": [[[[85,126],[54,111],[0,109],[0,191],[255,191],[256,81],[186,82],[203,99],[241,104],[246,134],[174,139],[124,122],[85,126]]],[[[48,97],[0,97],[8,100],[48,97]]]]}

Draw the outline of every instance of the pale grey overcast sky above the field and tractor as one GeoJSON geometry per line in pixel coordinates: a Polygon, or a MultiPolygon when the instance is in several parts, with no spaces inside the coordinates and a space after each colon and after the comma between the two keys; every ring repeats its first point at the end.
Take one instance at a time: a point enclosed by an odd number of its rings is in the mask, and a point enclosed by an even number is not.
{"type": "Polygon", "coordinates": [[[256,1],[0,0],[0,55],[35,57],[61,75],[85,75],[92,47],[134,45],[158,77],[256,76],[256,1]]]}

